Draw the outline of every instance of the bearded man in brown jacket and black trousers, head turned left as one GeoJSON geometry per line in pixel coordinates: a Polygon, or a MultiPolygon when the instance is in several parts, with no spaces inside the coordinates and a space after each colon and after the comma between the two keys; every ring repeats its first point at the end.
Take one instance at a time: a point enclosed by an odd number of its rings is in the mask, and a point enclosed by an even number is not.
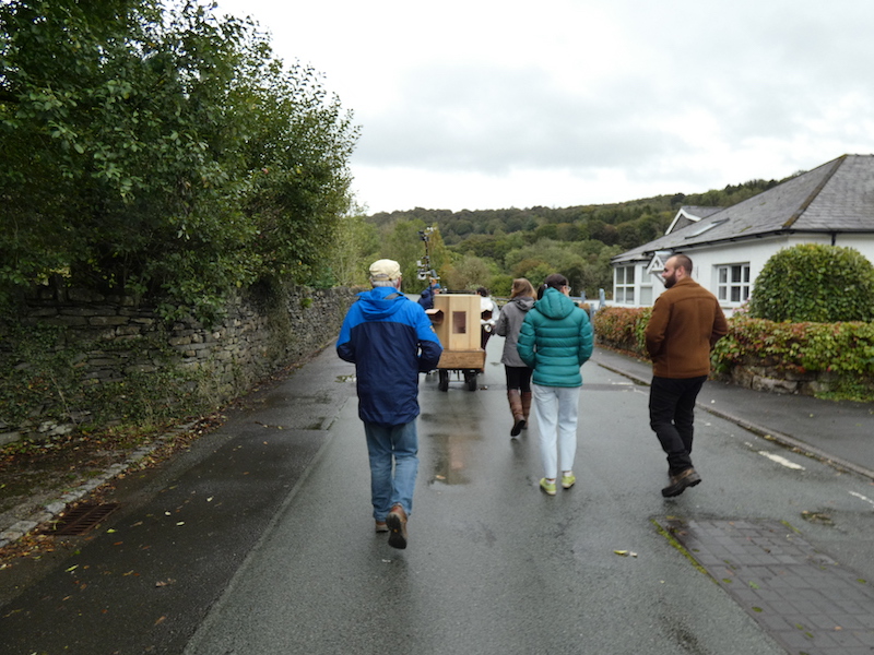
{"type": "Polygon", "coordinates": [[[692,466],[695,400],[710,373],[710,349],[729,326],[716,296],[692,278],[692,260],[675,254],[662,271],[665,290],[656,299],[646,331],[652,359],[649,421],[668,453],[671,484],[680,496],[701,481],[692,466]]]}

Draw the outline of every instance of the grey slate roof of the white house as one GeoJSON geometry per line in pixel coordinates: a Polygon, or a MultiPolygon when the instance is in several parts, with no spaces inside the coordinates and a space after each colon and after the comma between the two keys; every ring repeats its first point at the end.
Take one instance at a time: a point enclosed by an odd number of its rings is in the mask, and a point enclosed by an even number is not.
{"type": "Polygon", "coordinates": [[[874,155],[843,155],[697,223],[614,257],[648,260],[658,250],[766,236],[812,233],[874,234],[874,155]]]}

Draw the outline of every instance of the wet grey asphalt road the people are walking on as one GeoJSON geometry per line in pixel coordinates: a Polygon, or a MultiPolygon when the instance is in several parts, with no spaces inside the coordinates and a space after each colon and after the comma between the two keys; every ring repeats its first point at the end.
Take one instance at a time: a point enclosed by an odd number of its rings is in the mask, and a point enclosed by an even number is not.
{"type": "Polygon", "coordinates": [[[509,439],[501,345],[475,392],[423,377],[406,550],[373,532],[354,371],[328,348],[122,480],[68,550],[0,575],[3,653],[784,653],[659,531],[676,519],[783,522],[874,580],[869,478],[699,413],[704,483],[665,500],[648,390],[597,362],[577,486],[541,493],[535,427],[509,439]]]}

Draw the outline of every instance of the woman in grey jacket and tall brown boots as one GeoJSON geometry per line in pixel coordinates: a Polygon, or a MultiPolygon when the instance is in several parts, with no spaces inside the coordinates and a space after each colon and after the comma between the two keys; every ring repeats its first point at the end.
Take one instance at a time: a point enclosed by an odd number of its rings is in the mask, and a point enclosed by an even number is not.
{"type": "Polygon", "coordinates": [[[534,307],[534,287],[524,277],[512,281],[510,300],[500,310],[495,332],[505,337],[500,362],[507,376],[507,400],[512,414],[510,437],[518,437],[528,427],[531,410],[531,369],[525,366],[516,344],[528,311],[534,307]]]}

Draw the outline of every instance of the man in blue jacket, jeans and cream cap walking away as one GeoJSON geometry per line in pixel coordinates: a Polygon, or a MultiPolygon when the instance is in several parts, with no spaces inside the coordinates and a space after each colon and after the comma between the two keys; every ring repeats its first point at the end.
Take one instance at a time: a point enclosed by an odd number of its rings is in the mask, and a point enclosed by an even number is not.
{"type": "Polygon", "coordinates": [[[355,365],[376,531],[390,533],[389,546],[406,548],[418,472],[418,373],[437,368],[442,347],[425,310],[401,293],[398,262],[374,262],[370,285],[346,313],[336,354],[355,365]]]}

